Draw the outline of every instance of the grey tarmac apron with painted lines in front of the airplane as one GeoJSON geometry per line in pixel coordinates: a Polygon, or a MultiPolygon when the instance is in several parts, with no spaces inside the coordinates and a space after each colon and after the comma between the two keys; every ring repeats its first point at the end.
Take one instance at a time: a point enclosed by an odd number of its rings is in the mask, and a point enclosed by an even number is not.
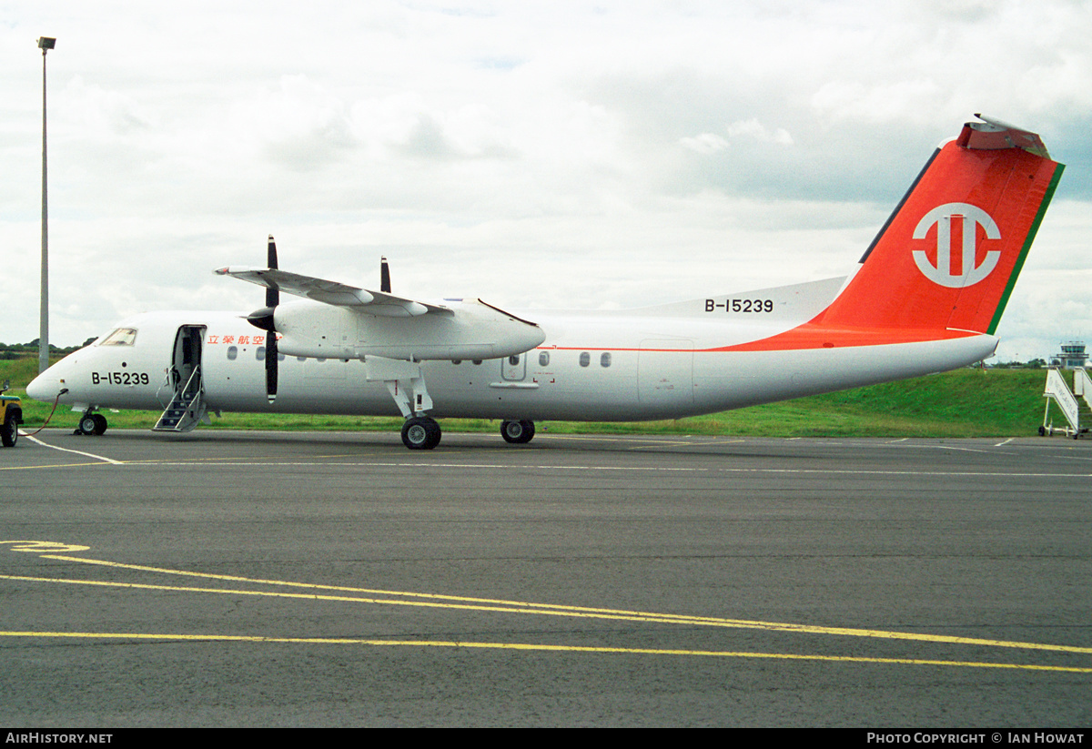
{"type": "Polygon", "coordinates": [[[1092,442],[46,430],[0,725],[1092,723],[1092,442]]]}

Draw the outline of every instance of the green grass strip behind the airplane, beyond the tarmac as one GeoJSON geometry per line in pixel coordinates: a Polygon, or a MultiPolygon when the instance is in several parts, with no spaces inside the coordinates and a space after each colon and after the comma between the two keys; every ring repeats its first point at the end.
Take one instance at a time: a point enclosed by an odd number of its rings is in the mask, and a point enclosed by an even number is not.
{"type": "MultiPolygon", "coordinates": [[[[25,395],[37,359],[0,361],[0,381],[25,395]]],[[[1034,435],[1043,421],[1046,370],[959,369],[943,374],[858,388],[841,393],[740,408],[709,416],[641,423],[548,421],[554,433],[685,433],[764,437],[1012,437],[1034,435]]],[[[24,400],[24,428],[40,426],[51,404],[24,400]]],[[[76,415],[58,409],[50,426],[75,426],[76,415]]],[[[111,428],[150,429],[158,412],[106,412],[111,428]]],[[[1058,420],[1058,419],[1056,419],[1058,420]]],[[[401,418],[225,414],[215,429],[395,431],[401,418]]],[[[490,419],[443,419],[443,429],[498,429],[490,419]]],[[[199,427],[206,429],[209,427],[199,427]]]]}

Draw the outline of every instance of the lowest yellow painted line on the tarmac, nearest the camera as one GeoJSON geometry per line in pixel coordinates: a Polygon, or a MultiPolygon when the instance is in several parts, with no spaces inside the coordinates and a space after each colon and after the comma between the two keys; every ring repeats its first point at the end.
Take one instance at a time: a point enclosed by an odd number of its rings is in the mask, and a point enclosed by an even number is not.
{"type": "Polygon", "coordinates": [[[686,655],[720,658],[770,658],[776,661],[816,661],[826,663],[875,663],[899,666],[947,666],[963,668],[1008,668],[1036,671],[1092,674],[1092,668],[1076,666],[1041,666],[1023,663],[986,663],[978,661],[936,661],[926,658],[879,658],[857,655],[817,655],[800,653],[747,653],[743,651],[707,651],[654,647],[607,647],[590,645],[545,645],[523,642],[464,642],[459,640],[367,640],[358,638],[271,638],[246,634],[170,634],[132,632],[3,632],[5,638],[57,638],[84,640],[248,642],[308,645],[372,645],[385,647],[452,647],[480,650],[538,651],[548,653],[602,653],[605,655],[686,655]]]}

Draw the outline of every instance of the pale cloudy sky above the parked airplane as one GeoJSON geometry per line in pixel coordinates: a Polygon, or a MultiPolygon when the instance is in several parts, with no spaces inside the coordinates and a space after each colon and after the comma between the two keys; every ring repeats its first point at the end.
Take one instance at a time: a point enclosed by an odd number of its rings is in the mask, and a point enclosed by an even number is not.
{"type": "Polygon", "coordinates": [[[973,112],[1067,165],[1001,360],[1092,343],[1092,3],[0,0],[0,341],[250,310],[264,262],[503,308],[847,273],[973,112]]]}

